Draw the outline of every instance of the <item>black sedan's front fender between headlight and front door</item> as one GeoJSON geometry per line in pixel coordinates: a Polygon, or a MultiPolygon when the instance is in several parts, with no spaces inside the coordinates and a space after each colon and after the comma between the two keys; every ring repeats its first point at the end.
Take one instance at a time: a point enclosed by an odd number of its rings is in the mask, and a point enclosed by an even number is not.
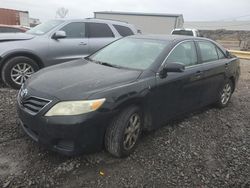
{"type": "Polygon", "coordinates": [[[106,98],[102,111],[119,113],[130,105],[139,106],[144,115],[144,129],[149,130],[152,127],[150,93],[155,86],[155,77],[150,77],[96,93],[90,99],[106,98]]]}

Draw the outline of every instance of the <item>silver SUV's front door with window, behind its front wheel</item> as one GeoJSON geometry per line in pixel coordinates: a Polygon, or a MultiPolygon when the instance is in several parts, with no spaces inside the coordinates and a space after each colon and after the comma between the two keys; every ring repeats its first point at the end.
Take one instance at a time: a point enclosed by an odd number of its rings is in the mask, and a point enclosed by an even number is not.
{"type": "Polygon", "coordinates": [[[49,61],[51,64],[79,59],[89,54],[89,41],[84,22],[71,22],[63,26],[66,38],[50,39],[49,61]]]}

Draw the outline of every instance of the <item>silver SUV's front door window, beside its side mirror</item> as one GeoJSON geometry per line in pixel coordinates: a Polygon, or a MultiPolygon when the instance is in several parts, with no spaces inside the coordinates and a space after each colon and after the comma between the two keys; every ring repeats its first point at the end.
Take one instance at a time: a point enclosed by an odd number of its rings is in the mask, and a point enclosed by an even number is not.
{"type": "Polygon", "coordinates": [[[66,38],[84,38],[85,37],[85,23],[73,22],[64,26],[61,31],[65,31],[66,38]]]}

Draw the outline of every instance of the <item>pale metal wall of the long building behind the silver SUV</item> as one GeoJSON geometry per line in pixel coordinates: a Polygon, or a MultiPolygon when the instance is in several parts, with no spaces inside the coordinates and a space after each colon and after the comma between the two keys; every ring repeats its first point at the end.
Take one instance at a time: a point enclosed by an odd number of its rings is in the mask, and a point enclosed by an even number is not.
{"type": "Polygon", "coordinates": [[[144,34],[170,34],[176,27],[182,27],[182,19],[166,16],[122,15],[95,13],[95,18],[125,21],[135,25],[144,34]],[[177,24],[177,25],[176,25],[177,24]]]}

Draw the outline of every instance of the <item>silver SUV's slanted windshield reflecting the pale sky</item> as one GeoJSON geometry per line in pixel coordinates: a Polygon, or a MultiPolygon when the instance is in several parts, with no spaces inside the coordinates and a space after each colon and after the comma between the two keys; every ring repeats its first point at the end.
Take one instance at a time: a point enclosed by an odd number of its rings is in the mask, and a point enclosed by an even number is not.
{"type": "Polygon", "coordinates": [[[26,33],[29,33],[32,35],[43,35],[61,23],[63,23],[62,20],[51,20],[51,21],[42,23],[42,24],[30,29],[26,33]]]}

